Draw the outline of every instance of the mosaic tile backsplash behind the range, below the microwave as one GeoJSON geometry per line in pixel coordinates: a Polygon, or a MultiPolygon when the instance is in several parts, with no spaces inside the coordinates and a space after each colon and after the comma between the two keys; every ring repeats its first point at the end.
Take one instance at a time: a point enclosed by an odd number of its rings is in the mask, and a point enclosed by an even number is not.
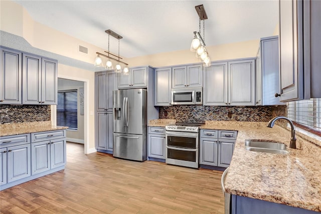
{"type": "MultiPolygon", "coordinates": [[[[159,107],[159,119],[178,122],[249,121],[268,122],[274,115],[286,112],[286,105],[278,106],[204,106],[173,105],[159,107]]],[[[286,116],[286,115],[285,115],[286,116]]]]}

